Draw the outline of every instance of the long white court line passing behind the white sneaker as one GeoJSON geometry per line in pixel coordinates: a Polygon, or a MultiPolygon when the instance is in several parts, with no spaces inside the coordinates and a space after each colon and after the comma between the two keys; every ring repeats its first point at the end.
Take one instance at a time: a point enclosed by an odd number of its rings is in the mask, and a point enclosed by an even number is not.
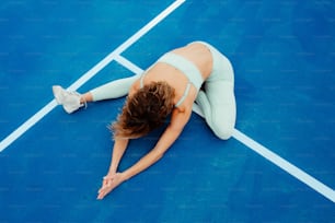
{"type": "MultiPolygon", "coordinates": [[[[68,90],[69,91],[76,91],[81,85],[83,85],[85,82],[88,82],[99,71],[101,71],[111,61],[113,61],[119,54],[125,51],[135,42],[137,42],[146,33],[148,33],[152,27],[154,27],[158,23],[160,23],[164,17],[166,17],[170,13],[172,13],[175,9],[177,9],[184,1],[185,0],[176,0],[175,2],[173,2],[164,11],[162,11],[153,20],[151,20],[147,25],[145,25],[137,33],[135,33],[131,37],[129,37],[126,42],[124,42],[119,47],[117,47],[114,51],[112,51],[109,55],[107,55],[96,66],[94,66],[91,70],[89,70],[86,73],[84,73],[80,79],[78,79],[73,84],[71,84],[68,87],[68,90]]],[[[56,105],[57,105],[56,101],[53,99],[45,107],[43,107],[41,110],[38,110],[34,116],[32,116],[28,120],[26,120],[24,124],[22,124],[16,130],[14,130],[7,138],[4,138],[0,142],[0,152],[2,152],[4,149],[7,149],[11,143],[13,143],[24,132],[26,132],[36,122],[38,122],[44,116],[46,116],[49,111],[51,111],[56,107],[56,105]]]]}

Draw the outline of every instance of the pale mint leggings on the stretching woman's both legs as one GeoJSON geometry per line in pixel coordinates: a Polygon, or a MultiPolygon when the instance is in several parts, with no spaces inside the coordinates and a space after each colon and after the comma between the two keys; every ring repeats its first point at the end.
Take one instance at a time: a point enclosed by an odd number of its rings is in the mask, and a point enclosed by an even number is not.
{"type": "MultiPolygon", "coordinates": [[[[230,61],[216,48],[207,43],[212,54],[213,67],[210,77],[205,81],[205,91],[200,90],[194,104],[194,109],[203,116],[220,139],[227,140],[232,136],[235,119],[236,104],[234,96],[234,74],[230,61]]],[[[126,96],[131,84],[140,74],[112,81],[91,91],[93,101],[113,99],[126,96]]]]}

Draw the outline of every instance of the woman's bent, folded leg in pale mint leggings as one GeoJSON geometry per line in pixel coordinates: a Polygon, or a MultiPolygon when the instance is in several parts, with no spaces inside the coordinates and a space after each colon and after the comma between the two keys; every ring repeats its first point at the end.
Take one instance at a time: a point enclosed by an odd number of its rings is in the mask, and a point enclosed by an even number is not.
{"type": "Polygon", "coordinates": [[[213,56],[213,69],[196,102],[211,130],[227,140],[232,136],[236,119],[234,74],[230,61],[211,46],[208,47],[213,56]]]}

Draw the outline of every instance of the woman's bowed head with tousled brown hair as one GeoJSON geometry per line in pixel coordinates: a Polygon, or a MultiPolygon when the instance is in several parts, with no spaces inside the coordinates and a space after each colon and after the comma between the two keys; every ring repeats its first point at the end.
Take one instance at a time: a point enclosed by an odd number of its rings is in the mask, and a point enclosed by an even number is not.
{"type": "Polygon", "coordinates": [[[174,89],[153,82],[128,96],[122,114],[112,125],[114,138],[138,138],[160,127],[173,109],[174,89]]]}

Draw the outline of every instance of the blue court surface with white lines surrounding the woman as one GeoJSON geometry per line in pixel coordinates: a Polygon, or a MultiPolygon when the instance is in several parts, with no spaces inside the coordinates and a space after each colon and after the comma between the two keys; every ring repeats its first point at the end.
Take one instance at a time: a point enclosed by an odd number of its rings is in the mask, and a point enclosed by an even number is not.
{"type": "MultiPolygon", "coordinates": [[[[0,222],[335,222],[334,1],[1,1],[0,222]],[[96,200],[124,98],[85,92],[193,40],[235,72],[228,141],[194,114],[148,171],[96,200]]],[[[160,131],[130,142],[120,171],[160,131]]]]}

